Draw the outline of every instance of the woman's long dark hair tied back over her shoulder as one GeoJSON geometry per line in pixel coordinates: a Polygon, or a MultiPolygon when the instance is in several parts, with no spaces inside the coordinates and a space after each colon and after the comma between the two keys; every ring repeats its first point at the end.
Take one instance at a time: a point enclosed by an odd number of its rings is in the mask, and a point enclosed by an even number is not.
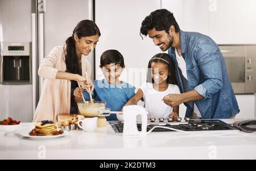
{"type": "Polygon", "coordinates": [[[101,36],[100,29],[98,26],[91,20],[81,20],[75,29],[73,30],[73,34],[71,37],[68,37],[66,40],[66,53],[65,53],[65,63],[67,66],[66,72],[70,72],[73,74],[80,74],[82,75],[81,66],[79,63],[79,58],[76,54],[76,44],[75,44],[75,34],[79,39],[81,37],[88,37],[98,35],[101,36]]]}

